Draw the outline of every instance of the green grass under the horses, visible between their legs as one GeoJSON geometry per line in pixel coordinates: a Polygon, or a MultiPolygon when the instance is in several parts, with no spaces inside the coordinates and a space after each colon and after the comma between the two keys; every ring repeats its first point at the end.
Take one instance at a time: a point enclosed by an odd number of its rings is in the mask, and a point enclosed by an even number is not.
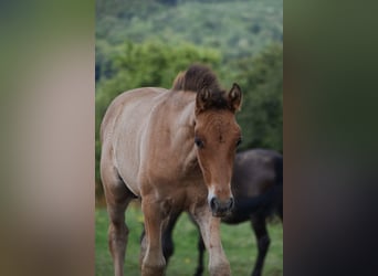
{"type": "MultiPolygon", "coordinates": [[[[106,209],[97,209],[96,215],[96,276],[113,275],[112,257],[107,248],[108,219],[106,209]]],[[[143,213],[137,205],[130,205],[126,212],[126,222],[130,230],[125,261],[125,275],[140,275],[139,272],[139,236],[141,233],[143,213]]],[[[231,264],[232,275],[251,275],[256,256],[256,243],[250,223],[229,226],[222,224],[222,244],[231,264]]],[[[271,246],[267,252],[264,276],[283,275],[283,229],[281,223],[269,225],[271,246]]],[[[171,257],[167,276],[192,275],[197,267],[196,226],[187,214],[181,215],[174,231],[175,254],[171,257]]],[[[206,257],[207,267],[208,256],[206,257]]],[[[208,272],[203,275],[208,276],[208,272]]]]}

